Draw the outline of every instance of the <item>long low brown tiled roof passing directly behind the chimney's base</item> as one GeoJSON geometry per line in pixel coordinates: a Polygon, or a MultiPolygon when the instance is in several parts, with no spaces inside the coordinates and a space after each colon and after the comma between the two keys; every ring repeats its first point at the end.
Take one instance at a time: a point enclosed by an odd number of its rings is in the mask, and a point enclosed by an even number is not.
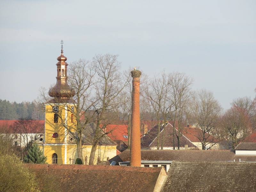
{"type": "MultiPolygon", "coordinates": [[[[141,150],[142,161],[181,161],[181,162],[200,162],[200,161],[224,161],[233,162],[245,161],[256,162],[256,156],[236,155],[229,150],[141,150]]],[[[110,165],[112,161],[130,161],[130,150],[125,150],[121,154],[114,156],[102,164],[110,165]]]]}

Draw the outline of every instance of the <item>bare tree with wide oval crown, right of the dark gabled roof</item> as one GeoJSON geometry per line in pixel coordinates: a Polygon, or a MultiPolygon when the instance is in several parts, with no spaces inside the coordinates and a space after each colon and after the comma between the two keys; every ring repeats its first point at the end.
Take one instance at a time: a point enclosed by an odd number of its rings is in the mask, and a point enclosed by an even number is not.
{"type": "Polygon", "coordinates": [[[202,149],[205,150],[213,142],[212,132],[218,125],[222,108],[213,93],[204,89],[192,94],[189,108],[189,122],[193,122],[201,130],[199,135],[194,136],[200,140],[202,149]]]}

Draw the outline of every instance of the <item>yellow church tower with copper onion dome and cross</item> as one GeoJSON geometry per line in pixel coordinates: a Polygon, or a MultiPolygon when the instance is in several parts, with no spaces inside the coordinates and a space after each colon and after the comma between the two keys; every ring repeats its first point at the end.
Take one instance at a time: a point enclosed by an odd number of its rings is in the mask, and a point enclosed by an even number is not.
{"type": "Polygon", "coordinates": [[[75,91],[68,85],[68,63],[67,57],[63,55],[62,45],[61,55],[57,60],[57,83],[49,90],[52,99],[44,104],[43,152],[47,156],[47,163],[67,164],[67,127],[70,128],[73,123],[72,113],[75,112],[75,104],[72,97],[75,91]]]}

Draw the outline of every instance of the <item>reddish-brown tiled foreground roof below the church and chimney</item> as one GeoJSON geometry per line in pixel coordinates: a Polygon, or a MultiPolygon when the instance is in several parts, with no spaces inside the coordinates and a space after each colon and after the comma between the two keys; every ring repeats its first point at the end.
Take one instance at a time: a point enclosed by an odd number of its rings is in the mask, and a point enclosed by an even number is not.
{"type": "MultiPolygon", "coordinates": [[[[37,178],[52,176],[58,191],[153,192],[162,167],[24,164],[37,178]]],[[[164,171],[165,172],[165,171],[164,171]]],[[[39,183],[40,185],[41,183],[39,183]]],[[[42,188],[42,184],[40,188],[42,188]]]]}

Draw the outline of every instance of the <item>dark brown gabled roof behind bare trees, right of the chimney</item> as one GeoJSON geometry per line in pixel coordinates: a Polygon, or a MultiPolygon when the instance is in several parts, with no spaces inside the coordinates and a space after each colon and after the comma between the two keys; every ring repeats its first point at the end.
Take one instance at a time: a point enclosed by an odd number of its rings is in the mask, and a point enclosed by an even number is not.
{"type": "MultiPolygon", "coordinates": [[[[164,131],[164,126],[160,127],[160,140],[162,140],[163,135],[164,135],[164,147],[173,147],[172,143],[172,133],[173,133],[173,127],[171,124],[167,123],[165,126],[165,131],[164,131]]],[[[156,147],[157,146],[157,133],[158,133],[158,125],[154,126],[146,135],[144,135],[141,140],[141,147],[142,148],[148,148],[148,147],[156,147]]],[[[178,147],[178,140],[177,137],[175,136],[175,143],[176,146],[178,147]]],[[[190,148],[196,148],[196,146],[189,141],[184,135],[180,137],[180,147],[185,147],[185,145],[188,145],[190,148]]],[[[161,146],[161,144],[160,144],[161,146]]]]}

